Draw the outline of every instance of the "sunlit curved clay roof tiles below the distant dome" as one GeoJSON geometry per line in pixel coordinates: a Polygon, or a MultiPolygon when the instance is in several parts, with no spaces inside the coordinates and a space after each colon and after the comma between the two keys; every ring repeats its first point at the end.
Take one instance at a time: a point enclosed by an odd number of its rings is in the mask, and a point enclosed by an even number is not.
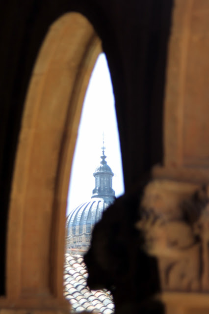
{"type": "Polygon", "coordinates": [[[114,303],[107,290],[90,290],[86,286],[88,273],[83,257],[65,254],[64,295],[72,305],[72,313],[84,310],[99,314],[113,314],[114,303]]]}

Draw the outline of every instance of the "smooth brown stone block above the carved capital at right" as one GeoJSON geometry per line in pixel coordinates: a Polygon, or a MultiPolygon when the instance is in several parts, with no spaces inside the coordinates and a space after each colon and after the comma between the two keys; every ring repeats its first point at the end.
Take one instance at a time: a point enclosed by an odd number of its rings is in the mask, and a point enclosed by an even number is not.
{"type": "Polygon", "coordinates": [[[164,102],[168,168],[209,168],[208,55],[208,1],[176,0],[164,102]]]}

